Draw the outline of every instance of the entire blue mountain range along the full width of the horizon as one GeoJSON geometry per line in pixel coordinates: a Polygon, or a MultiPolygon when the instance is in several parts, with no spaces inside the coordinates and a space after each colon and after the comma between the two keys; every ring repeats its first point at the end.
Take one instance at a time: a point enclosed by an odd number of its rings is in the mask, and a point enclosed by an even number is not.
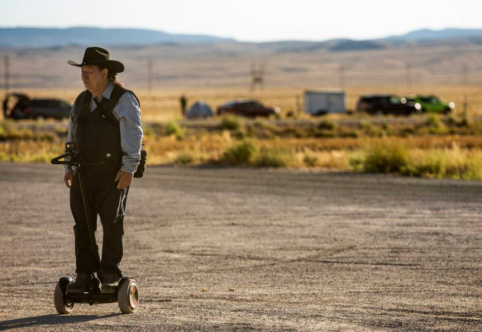
{"type": "MultiPolygon", "coordinates": [[[[320,41],[279,40],[254,44],[300,43],[314,48],[333,47],[337,50],[383,48],[383,43],[413,43],[441,40],[482,38],[482,29],[445,28],[419,29],[403,35],[378,39],[354,40],[338,38],[320,41]],[[337,45],[337,43],[341,43],[337,45]],[[380,44],[381,43],[381,44],[380,44]]],[[[0,27],[0,47],[62,47],[85,45],[158,45],[158,44],[209,44],[241,43],[233,38],[196,34],[170,34],[164,31],[141,28],[101,28],[91,26],[55,27],[0,27]]],[[[247,42],[244,44],[252,44],[247,42]]]]}

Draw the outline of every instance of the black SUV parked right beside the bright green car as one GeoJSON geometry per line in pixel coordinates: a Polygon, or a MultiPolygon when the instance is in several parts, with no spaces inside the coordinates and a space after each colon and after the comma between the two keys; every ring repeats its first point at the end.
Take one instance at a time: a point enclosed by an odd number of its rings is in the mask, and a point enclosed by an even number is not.
{"type": "Polygon", "coordinates": [[[361,96],[357,103],[357,112],[383,115],[410,115],[422,113],[420,103],[407,102],[405,98],[395,95],[361,96]]]}

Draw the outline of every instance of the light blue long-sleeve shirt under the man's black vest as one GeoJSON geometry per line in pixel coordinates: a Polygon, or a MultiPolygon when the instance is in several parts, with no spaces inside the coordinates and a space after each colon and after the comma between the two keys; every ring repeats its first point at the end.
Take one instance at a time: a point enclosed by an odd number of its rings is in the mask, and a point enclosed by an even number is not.
{"type": "MultiPolygon", "coordinates": [[[[112,94],[114,83],[109,83],[101,96],[99,101],[107,98],[112,94]]],[[[76,103],[72,106],[71,116],[69,117],[69,128],[67,131],[67,142],[75,141],[75,131],[77,124],[73,121],[72,115],[76,112],[76,103]]],[[[93,98],[90,100],[90,112],[97,107],[93,98]]],[[[120,126],[120,146],[124,152],[122,157],[122,166],[120,170],[134,174],[141,160],[141,144],[142,144],[142,123],[141,123],[141,108],[137,102],[136,97],[130,92],[124,93],[112,111],[114,116],[119,120],[120,126]]],[[[69,172],[66,167],[66,173],[69,172]]]]}

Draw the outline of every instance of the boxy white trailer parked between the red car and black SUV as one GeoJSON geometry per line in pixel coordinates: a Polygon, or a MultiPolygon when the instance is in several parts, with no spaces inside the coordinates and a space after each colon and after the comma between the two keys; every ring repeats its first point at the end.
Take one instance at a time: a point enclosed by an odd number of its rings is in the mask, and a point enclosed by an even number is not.
{"type": "Polygon", "coordinates": [[[343,90],[306,90],[305,112],[311,115],[344,113],[345,92],[343,90]]]}

